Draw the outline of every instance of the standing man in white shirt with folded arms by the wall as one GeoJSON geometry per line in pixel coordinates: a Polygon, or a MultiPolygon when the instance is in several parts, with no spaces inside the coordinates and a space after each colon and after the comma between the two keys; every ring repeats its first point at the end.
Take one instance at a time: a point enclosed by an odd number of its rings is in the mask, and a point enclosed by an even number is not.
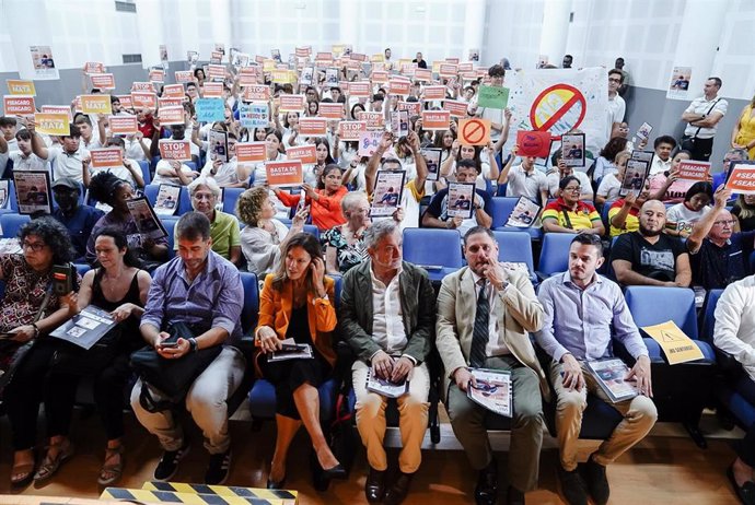
{"type": "Polygon", "coordinates": [[[704,95],[695,98],[682,114],[682,120],[687,122],[682,149],[689,151],[693,160],[699,162],[710,160],[717,125],[729,108],[729,102],[718,96],[721,84],[719,78],[709,78],[702,87],[704,95]]]}

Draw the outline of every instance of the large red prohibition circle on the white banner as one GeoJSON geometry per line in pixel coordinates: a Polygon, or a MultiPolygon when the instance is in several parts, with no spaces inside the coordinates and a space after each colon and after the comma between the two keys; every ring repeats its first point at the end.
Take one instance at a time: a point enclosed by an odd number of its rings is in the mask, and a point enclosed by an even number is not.
{"type": "Polygon", "coordinates": [[[586,109],[581,91],[569,84],[555,84],[543,90],[532,103],[530,124],[533,130],[547,130],[560,138],[582,124],[586,109]]]}

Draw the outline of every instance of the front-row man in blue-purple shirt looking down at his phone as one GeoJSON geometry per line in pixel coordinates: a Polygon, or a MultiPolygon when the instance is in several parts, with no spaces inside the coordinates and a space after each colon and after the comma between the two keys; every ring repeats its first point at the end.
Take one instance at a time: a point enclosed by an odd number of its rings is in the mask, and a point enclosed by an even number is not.
{"type": "MultiPolygon", "coordinates": [[[[202,430],[205,447],[210,453],[205,482],[221,484],[231,465],[225,400],[241,384],[245,367],[241,352],[228,345],[241,338],[244,290],[233,263],[211,250],[210,222],[205,214],[184,214],[176,224],[176,237],[178,256],[155,271],[140,329],[144,340],[166,360],[223,347],[186,396],[186,410],[202,430]],[[175,347],[169,347],[164,342],[170,337],[165,330],[175,322],[186,324],[195,337],[178,338],[175,347]]],[[[154,479],[169,481],[189,444],[171,410],[149,412],[141,406],[141,388],[139,379],[131,391],[131,407],[164,449],[154,479]]],[[[158,401],[163,399],[154,388],[150,387],[150,394],[158,401]]]]}

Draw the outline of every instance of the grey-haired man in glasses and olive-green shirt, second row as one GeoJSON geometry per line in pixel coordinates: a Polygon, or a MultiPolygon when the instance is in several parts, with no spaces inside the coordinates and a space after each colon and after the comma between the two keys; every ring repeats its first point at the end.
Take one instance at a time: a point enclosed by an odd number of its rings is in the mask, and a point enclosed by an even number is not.
{"type": "MultiPolygon", "coordinates": [[[[218,183],[212,177],[199,176],[186,188],[191,199],[191,208],[201,212],[210,220],[210,237],[212,250],[233,265],[241,262],[241,231],[239,221],[225,212],[216,209],[222,195],[218,183]]],[[[173,230],[175,250],[178,250],[177,231],[173,230]]]]}

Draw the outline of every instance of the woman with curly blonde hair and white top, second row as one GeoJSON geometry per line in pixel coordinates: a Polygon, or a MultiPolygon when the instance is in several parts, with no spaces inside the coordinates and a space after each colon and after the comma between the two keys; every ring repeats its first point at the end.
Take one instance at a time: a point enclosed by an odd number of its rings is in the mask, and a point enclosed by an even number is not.
{"type": "Polygon", "coordinates": [[[236,201],[236,215],[246,225],[241,231],[246,269],[260,277],[278,270],[286,240],[304,230],[307,214],[306,208],[300,209],[289,230],[275,219],[276,209],[267,189],[252,188],[241,193],[236,201]]]}

